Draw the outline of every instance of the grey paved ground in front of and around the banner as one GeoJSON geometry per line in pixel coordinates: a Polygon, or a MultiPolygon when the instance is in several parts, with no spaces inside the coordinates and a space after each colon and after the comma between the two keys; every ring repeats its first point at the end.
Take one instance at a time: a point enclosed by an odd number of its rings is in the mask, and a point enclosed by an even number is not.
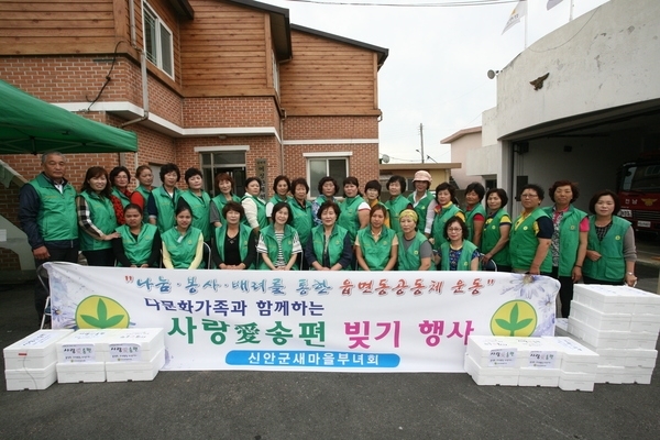
{"type": "MultiPolygon", "coordinates": [[[[654,293],[660,244],[639,255],[638,287],[654,293]]],[[[0,346],[35,328],[32,284],[2,287],[0,346]]],[[[659,374],[593,393],[477,386],[468,374],[218,371],[7,392],[2,374],[0,439],[657,439],[659,374]]]]}

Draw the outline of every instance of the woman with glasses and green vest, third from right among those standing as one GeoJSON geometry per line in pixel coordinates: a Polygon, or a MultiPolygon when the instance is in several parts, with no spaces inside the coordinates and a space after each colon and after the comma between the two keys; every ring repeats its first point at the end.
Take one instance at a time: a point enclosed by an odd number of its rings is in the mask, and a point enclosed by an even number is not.
{"type": "Polygon", "coordinates": [[[520,191],[522,212],[512,227],[509,255],[513,272],[550,276],[552,255],[552,219],[540,208],[543,189],[535,184],[525,185],[520,191]]]}

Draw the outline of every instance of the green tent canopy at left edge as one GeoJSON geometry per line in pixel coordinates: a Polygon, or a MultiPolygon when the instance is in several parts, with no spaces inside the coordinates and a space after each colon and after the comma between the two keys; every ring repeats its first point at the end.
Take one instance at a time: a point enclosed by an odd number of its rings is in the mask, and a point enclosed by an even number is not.
{"type": "Polygon", "coordinates": [[[135,133],[34,98],[0,80],[0,154],[136,152],[135,133]]]}

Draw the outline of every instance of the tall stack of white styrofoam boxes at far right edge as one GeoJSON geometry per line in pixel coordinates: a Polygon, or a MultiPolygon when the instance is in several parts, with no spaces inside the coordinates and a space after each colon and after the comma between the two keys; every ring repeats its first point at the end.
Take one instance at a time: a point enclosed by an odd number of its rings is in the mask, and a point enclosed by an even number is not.
{"type": "Polygon", "coordinates": [[[649,384],[658,356],[660,296],[576,284],[568,331],[600,354],[596,383],[649,384]]]}

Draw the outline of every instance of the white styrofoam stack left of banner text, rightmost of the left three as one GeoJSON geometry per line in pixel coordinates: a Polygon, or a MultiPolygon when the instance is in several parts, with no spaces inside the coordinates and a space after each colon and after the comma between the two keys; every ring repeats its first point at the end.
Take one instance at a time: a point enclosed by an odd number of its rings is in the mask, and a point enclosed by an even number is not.
{"type": "Polygon", "coordinates": [[[163,329],[124,329],[102,342],[108,382],[153,381],[165,364],[163,329]]]}

